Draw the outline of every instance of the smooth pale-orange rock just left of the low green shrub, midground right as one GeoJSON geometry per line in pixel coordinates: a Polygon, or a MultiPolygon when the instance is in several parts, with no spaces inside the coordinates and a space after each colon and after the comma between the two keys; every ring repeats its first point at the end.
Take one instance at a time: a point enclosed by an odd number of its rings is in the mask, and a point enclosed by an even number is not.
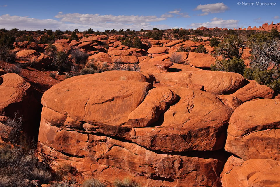
{"type": "Polygon", "coordinates": [[[187,61],[197,68],[210,68],[215,64],[215,58],[210,54],[190,52],[187,61]]]}

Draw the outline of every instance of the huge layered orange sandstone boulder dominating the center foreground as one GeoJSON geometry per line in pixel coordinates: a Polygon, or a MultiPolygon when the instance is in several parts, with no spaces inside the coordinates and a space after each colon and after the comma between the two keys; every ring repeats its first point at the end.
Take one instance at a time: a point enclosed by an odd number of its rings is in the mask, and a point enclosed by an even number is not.
{"type": "Polygon", "coordinates": [[[39,151],[110,183],[220,186],[233,110],[209,92],[154,88],[152,77],[108,71],[53,86],[42,97],[39,151]]]}

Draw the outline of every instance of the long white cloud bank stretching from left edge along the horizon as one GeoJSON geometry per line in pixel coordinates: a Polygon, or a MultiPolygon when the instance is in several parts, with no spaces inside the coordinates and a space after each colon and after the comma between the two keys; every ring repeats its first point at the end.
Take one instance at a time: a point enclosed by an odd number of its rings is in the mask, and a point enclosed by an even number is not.
{"type": "Polygon", "coordinates": [[[131,29],[131,30],[151,30],[154,27],[159,29],[171,28],[164,24],[151,24],[150,22],[160,22],[166,20],[167,17],[157,16],[113,16],[113,15],[94,15],[90,14],[58,14],[56,17],[60,20],[55,19],[36,19],[21,16],[10,16],[9,14],[0,16],[0,28],[6,28],[10,30],[12,28],[18,28],[20,30],[74,30],[79,29],[80,31],[88,30],[120,30],[120,29],[131,29]],[[66,16],[67,15],[67,16],[66,16]]]}

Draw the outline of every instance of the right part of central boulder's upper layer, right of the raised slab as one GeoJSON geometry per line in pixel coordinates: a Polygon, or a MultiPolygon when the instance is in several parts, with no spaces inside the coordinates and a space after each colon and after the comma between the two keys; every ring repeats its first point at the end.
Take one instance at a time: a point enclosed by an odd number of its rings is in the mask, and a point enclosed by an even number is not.
{"type": "Polygon", "coordinates": [[[180,87],[169,89],[183,99],[163,114],[164,121],[152,127],[134,128],[132,141],[167,152],[221,149],[232,110],[210,93],[180,87]]]}

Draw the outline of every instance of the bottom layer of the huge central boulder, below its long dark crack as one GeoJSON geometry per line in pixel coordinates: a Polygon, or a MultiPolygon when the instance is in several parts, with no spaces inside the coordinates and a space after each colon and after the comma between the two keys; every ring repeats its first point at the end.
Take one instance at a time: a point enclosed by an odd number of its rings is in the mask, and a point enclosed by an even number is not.
{"type": "Polygon", "coordinates": [[[44,119],[38,144],[39,151],[56,162],[71,164],[84,176],[110,183],[130,177],[150,187],[220,186],[221,157],[157,154],[134,143],[57,128],[44,119]]]}

